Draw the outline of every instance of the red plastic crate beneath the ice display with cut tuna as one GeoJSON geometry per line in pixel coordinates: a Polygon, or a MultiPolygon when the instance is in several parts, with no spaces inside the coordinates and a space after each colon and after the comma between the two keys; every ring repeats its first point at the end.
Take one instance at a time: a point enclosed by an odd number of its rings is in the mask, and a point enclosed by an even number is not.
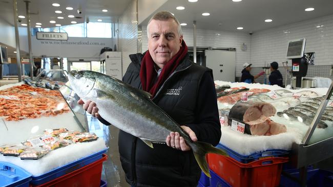
{"type": "Polygon", "coordinates": [[[234,187],[279,186],[282,164],[289,158],[263,158],[241,163],[231,157],[208,154],[212,171],[234,187]]]}

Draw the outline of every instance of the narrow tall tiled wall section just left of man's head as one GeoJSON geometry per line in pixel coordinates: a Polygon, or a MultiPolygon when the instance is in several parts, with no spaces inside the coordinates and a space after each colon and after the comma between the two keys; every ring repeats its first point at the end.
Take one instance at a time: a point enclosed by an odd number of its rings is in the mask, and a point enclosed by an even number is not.
{"type": "Polygon", "coordinates": [[[119,46],[118,51],[122,52],[122,75],[131,63],[129,55],[138,52],[137,49],[137,0],[133,0],[118,20],[119,46]]]}

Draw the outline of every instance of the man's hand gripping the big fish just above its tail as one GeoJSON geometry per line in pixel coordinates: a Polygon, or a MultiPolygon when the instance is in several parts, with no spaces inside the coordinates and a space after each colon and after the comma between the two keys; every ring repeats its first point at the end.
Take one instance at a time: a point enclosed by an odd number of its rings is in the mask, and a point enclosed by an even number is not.
{"type": "MultiPolygon", "coordinates": [[[[190,135],[193,142],[198,141],[197,136],[191,130],[190,127],[188,127],[188,126],[180,126],[180,127],[183,128],[184,131],[187,132],[190,135]]],[[[191,150],[191,147],[188,146],[188,144],[186,144],[184,138],[181,137],[178,132],[170,132],[170,135],[168,135],[166,137],[165,142],[166,142],[166,145],[168,145],[169,147],[172,147],[172,148],[175,148],[175,149],[178,149],[178,150],[182,150],[182,151],[191,150]]]]}

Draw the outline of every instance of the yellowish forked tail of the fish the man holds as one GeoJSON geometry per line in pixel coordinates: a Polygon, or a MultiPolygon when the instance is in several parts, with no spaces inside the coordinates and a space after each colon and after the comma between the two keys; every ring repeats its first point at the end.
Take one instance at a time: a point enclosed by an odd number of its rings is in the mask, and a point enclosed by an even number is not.
{"type": "Polygon", "coordinates": [[[211,174],[209,172],[208,163],[206,161],[206,154],[215,153],[222,156],[228,156],[228,154],[224,150],[213,147],[209,143],[192,142],[189,145],[193,150],[194,157],[197,160],[200,169],[205,175],[207,175],[207,177],[211,177],[211,174]]]}

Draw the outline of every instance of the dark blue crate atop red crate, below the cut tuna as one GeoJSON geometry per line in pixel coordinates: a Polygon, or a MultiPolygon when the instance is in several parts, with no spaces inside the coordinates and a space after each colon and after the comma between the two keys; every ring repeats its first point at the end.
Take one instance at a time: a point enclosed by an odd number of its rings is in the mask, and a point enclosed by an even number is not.
{"type": "Polygon", "coordinates": [[[280,150],[280,149],[270,149],[266,151],[262,151],[259,153],[252,153],[250,155],[241,155],[230,148],[223,146],[222,144],[218,144],[217,148],[224,149],[230,157],[242,163],[249,163],[255,160],[259,160],[263,157],[288,157],[289,151],[280,150]]]}

